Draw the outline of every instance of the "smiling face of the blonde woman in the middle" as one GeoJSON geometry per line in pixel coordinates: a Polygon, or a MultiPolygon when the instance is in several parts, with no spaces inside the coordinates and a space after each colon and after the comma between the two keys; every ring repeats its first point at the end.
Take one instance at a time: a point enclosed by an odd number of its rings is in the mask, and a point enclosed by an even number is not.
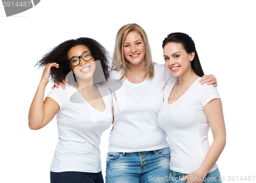
{"type": "Polygon", "coordinates": [[[145,62],[145,44],[141,35],[137,32],[129,32],[123,43],[124,57],[130,65],[141,65],[145,62]]]}

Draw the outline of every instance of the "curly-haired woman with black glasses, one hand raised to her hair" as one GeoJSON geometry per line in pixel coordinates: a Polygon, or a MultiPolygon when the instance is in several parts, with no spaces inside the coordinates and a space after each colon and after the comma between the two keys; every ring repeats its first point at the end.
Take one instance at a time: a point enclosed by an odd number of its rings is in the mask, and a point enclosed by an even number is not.
{"type": "Polygon", "coordinates": [[[45,67],[29,110],[29,127],[46,126],[56,115],[59,140],[51,164],[51,183],[103,183],[100,136],[113,122],[109,56],[97,41],[65,41],[37,62],[45,67]],[[53,89],[44,101],[49,77],[68,79],[70,86],[53,89]]]}

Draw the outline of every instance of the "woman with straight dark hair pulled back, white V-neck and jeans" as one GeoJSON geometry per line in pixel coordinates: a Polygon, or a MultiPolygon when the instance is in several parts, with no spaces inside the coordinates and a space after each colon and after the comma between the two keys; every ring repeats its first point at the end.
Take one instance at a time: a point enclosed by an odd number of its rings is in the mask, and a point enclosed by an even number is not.
{"type": "Polygon", "coordinates": [[[187,34],[172,33],[163,40],[167,70],[178,77],[164,88],[158,124],[170,149],[171,182],[221,182],[216,164],[226,144],[220,95],[216,87],[201,85],[204,75],[195,43],[187,34]],[[209,145],[211,127],[214,142],[209,145]]]}

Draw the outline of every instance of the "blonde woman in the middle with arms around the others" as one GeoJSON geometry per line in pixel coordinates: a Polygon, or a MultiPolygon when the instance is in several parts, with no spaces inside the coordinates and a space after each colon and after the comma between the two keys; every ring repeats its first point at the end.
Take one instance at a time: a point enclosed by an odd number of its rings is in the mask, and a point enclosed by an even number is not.
{"type": "MultiPolygon", "coordinates": [[[[117,103],[126,107],[115,115],[109,137],[106,183],[169,182],[170,148],[157,116],[164,86],[177,78],[152,61],[147,35],[137,24],[118,31],[112,70],[110,79],[122,80],[125,90],[117,103]]],[[[216,78],[205,76],[200,82],[215,84],[216,78]]]]}

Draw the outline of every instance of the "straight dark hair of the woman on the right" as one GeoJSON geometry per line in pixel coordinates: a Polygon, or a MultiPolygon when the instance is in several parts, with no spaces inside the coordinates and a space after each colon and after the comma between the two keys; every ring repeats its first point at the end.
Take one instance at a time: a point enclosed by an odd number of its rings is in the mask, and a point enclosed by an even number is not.
{"type": "Polygon", "coordinates": [[[201,63],[199,61],[199,57],[196,51],[195,43],[189,35],[181,32],[175,32],[169,34],[167,37],[164,38],[162,47],[164,48],[165,45],[168,42],[176,42],[176,43],[181,43],[183,49],[186,51],[186,53],[192,53],[195,52],[195,57],[191,61],[191,67],[193,71],[200,77],[204,75],[201,63]]]}

